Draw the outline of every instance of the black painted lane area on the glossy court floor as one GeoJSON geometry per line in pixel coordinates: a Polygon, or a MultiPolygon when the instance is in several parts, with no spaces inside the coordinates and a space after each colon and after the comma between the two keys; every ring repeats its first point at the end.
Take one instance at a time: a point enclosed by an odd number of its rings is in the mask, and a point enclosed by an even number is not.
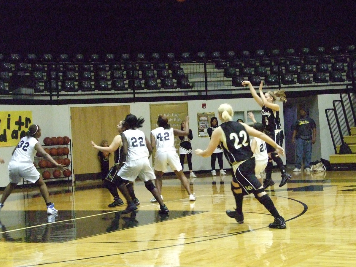
{"type": "Polygon", "coordinates": [[[158,210],[140,210],[121,214],[120,211],[61,210],[47,215],[46,211],[2,211],[1,241],[66,242],[203,212],[175,210],[160,214],[158,210]]]}

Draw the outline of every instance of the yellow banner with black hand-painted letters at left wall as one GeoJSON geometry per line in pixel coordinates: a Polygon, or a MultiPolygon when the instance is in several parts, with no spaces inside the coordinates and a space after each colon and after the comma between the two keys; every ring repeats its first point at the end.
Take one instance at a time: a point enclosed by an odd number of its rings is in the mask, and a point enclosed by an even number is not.
{"type": "Polygon", "coordinates": [[[32,124],[32,111],[0,111],[0,147],[16,146],[32,124]]]}

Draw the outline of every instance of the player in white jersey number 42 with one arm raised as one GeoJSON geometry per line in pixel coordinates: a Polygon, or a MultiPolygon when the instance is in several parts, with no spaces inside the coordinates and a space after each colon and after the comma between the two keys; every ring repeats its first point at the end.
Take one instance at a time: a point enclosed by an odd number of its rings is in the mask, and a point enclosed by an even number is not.
{"type": "MultiPolygon", "coordinates": [[[[195,201],[194,194],[190,192],[189,182],[183,173],[182,165],[177,154],[176,147],[174,147],[174,136],[187,136],[189,134],[189,117],[185,118],[184,131],[174,129],[168,124],[166,116],[159,115],[157,119],[158,127],[151,131],[151,146],[152,149],[156,147],[155,154],[155,175],[156,188],[162,197],[162,176],[167,172],[167,165],[174,171],[185,190],[187,190],[190,201],[195,201]]],[[[156,202],[156,198],[152,198],[151,202],[156,202]]]]}

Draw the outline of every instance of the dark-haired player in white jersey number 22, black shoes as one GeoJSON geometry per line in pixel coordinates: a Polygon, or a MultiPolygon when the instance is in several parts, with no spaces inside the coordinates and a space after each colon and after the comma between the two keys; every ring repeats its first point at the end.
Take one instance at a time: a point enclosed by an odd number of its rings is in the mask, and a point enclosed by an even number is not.
{"type": "Polygon", "coordinates": [[[161,196],[158,193],[157,188],[152,183],[152,180],[156,179],[155,174],[150,165],[148,157],[151,156],[152,147],[150,142],[141,130],[138,128],[142,127],[145,119],[138,118],[135,115],[129,114],[126,116],[124,121],[125,131],[122,135],[122,148],[123,148],[123,157],[120,159],[119,163],[119,172],[117,176],[119,190],[124,195],[127,200],[127,208],[121,213],[129,213],[137,209],[136,204],[132,201],[125,183],[127,180],[133,182],[138,176],[149,190],[153,197],[155,197],[160,205],[160,212],[168,213],[168,208],[164,205],[161,196]],[[123,164],[123,159],[126,156],[126,163],[123,164]]]}

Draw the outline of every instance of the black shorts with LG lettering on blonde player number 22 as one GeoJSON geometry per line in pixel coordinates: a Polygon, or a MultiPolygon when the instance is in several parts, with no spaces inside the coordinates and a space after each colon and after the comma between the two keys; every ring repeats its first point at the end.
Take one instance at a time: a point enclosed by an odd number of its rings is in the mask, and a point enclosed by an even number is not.
{"type": "Polygon", "coordinates": [[[262,184],[258,181],[255,175],[255,157],[247,159],[245,162],[241,163],[239,167],[237,167],[236,171],[234,166],[232,166],[232,172],[235,175],[232,177],[232,180],[238,184],[242,188],[242,193],[244,195],[255,192],[256,189],[260,188],[262,184]]]}

